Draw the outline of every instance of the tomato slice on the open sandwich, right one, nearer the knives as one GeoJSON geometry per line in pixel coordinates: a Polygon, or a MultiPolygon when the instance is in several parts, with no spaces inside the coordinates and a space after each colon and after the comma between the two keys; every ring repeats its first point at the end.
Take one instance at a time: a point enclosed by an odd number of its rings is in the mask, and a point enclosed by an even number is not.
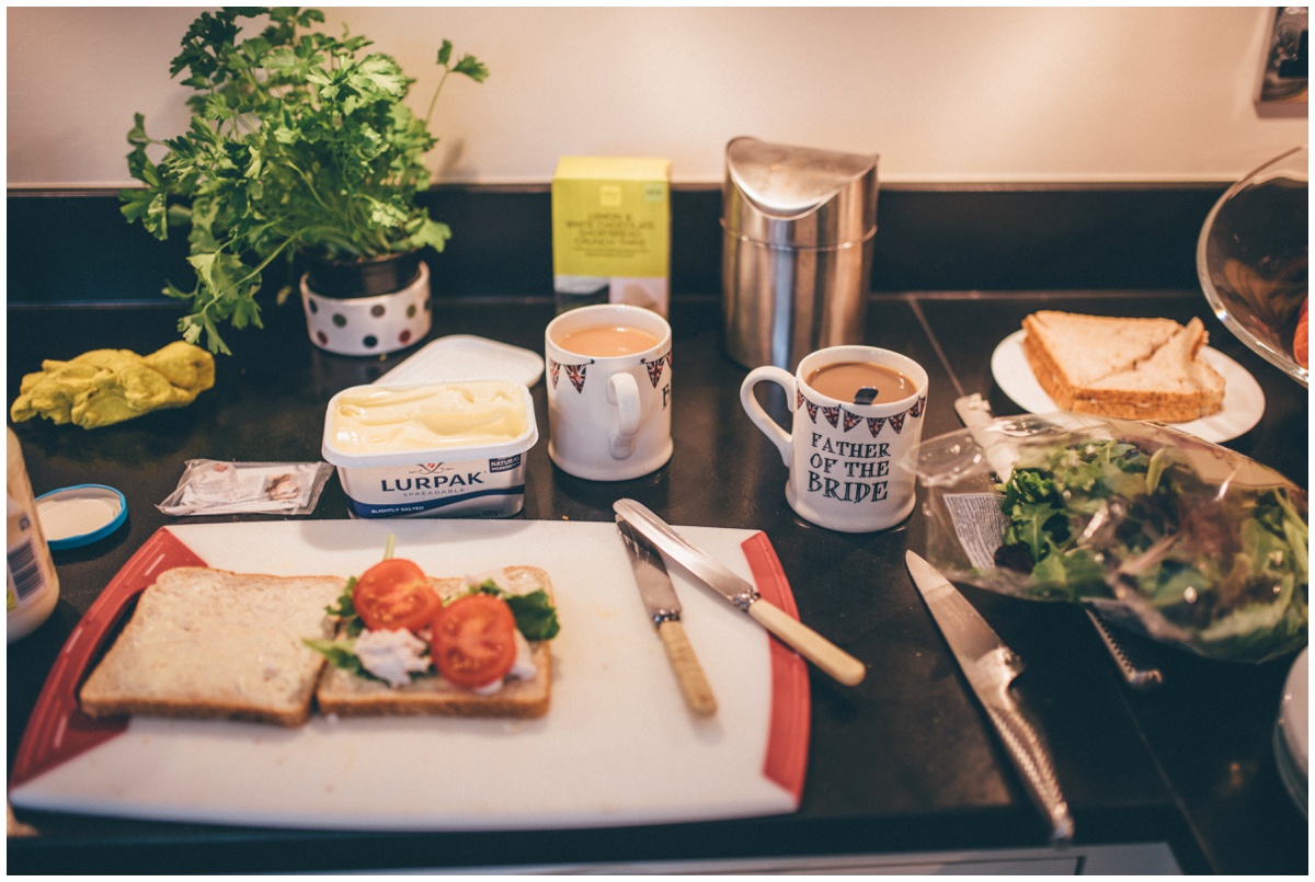
{"type": "Polygon", "coordinates": [[[471,594],[434,616],[430,659],[438,673],[468,689],[502,680],[515,664],[515,618],[506,601],[471,594]]]}

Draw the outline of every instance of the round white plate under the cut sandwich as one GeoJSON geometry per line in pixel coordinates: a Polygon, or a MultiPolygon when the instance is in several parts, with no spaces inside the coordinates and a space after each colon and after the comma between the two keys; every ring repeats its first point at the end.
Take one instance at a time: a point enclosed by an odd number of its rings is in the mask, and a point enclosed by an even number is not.
{"type": "MultiPolygon", "coordinates": [[[[1023,354],[1023,337],[1027,331],[1014,331],[995,347],[990,358],[990,371],[1001,392],[1014,402],[1034,414],[1059,410],[1055,401],[1036,381],[1032,367],[1023,354]]],[[[1202,417],[1185,423],[1170,423],[1174,429],[1191,432],[1202,440],[1220,443],[1232,440],[1251,431],[1265,413],[1265,393],[1241,367],[1227,355],[1208,346],[1202,351],[1206,364],[1224,379],[1224,406],[1212,417],[1202,417]]]]}

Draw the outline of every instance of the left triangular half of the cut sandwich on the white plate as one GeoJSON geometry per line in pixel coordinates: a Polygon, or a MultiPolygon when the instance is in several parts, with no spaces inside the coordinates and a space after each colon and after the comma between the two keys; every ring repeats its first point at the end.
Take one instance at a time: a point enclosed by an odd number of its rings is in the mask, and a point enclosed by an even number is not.
{"type": "Polygon", "coordinates": [[[1023,354],[1045,394],[1070,410],[1077,389],[1136,367],[1180,327],[1168,318],[1040,310],[1023,319],[1023,354]]]}

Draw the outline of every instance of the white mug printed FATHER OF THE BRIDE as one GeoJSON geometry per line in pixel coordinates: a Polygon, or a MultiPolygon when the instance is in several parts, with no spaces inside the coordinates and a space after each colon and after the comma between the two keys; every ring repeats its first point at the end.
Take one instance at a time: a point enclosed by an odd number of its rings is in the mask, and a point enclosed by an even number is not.
{"type": "Polygon", "coordinates": [[[842,532],[892,527],[913,513],[914,475],[899,465],[922,438],[927,372],[898,352],[835,346],[803,356],[792,375],[777,367],[750,371],[740,385],[744,413],[781,451],[789,469],[785,498],[803,519],[842,532]],[[894,401],[856,405],[822,394],[806,377],[828,364],[865,361],[894,368],[914,386],[894,401]],[[785,431],[753,396],[759,383],[785,390],[793,426],[785,431]]]}

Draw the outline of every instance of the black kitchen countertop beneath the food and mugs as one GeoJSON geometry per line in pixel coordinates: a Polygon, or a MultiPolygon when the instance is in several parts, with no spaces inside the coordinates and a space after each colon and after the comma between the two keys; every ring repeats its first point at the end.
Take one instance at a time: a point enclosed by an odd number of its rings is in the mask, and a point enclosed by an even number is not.
{"type": "MultiPolygon", "coordinates": [[[[1239,343],[1199,292],[890,294],[872,300],[864,342],[903,352],[931,379],[924,438],[959,429],[952,402],[982,392],[997,414],[1019,406],[995,388],[995,344],[1041,308],[1127,315],[1201,315],[1211,344],[1260,383],[1260,425],[1227,446],[1308,486],[1308,396],[1239,343]]],[[[150,306],[11,306],[8,402],[42,359],[91,348],[153,351],[176,338],[178,310],[150,306]]],[[[547,298],[435,298],[434,337],[476,334],[542,352],[547,298]]],[[[16,426],[39,494],[80,482],[124,490],[129,521],[110,538],[55,552],[60,601],[51,619],[8,648],[8,762],[42,682],[75,623],[159,527],[155,505],[189,459],[318,460],[325,405],[410,351],[354,359],[314,350],[296,309],[270,309],[266,329],[226,335],[216,388],[188,407],[84,431],[16,426]]],[[[801,619],[869,666],[849,689],[810,669],[811,743],[796,814],[519,832],[391,833],[210,827],[20,811],[39,831],[8,840],[11,873],[323,871],[389,868],[584,866],[721,858],[1043,849],[1048,831],[903,565],[923,549],[920,513],[892,530],[846,535],[801,521],[784,497],[776,448],[743,414],[747,369],[721,342],[715,297],[677,298],[673,436],[656,473],[618,484],[573,478],[548,459],[543,383],[533,389],[540,443],[527,455],[521,518],[611,521],[623,496],[684,526],[760,528],[793,588],[801,619]]],[[[776,402],[780,410],[780,404],[776,402]]],[[[780,413],[778,413],[780,415],[780,413]]],[[[922,494],[922,490],[919,490],[922,494]]],[[[347,517],[337,478],[314,518],[347,517]]],[[[235,517],[183,519],[235,521],[235,517]]],[[[1186,871],[1308,869],[1308,827],[1283,789],[1272,735],[1293,657],[1226,664],[1130,640],[1166,672],[1131,691],[1081,610],[965,588],[1027,660],[1018,690],[1038,712],[1073,808],[1077,845],[1169,843],[1186,871]]]]}

